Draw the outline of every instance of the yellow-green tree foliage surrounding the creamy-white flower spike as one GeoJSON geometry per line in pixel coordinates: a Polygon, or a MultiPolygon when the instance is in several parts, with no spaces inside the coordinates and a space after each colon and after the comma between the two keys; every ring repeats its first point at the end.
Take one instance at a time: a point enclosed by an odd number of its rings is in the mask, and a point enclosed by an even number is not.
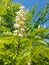
{"type": "Polygon", "coordinates": [[[46,9],[36,12],[36,6],[25,11],[25,36],[13,35],[16,12],[21,5],[10,0],[0,0],[0,64],[1,65],[49,65],[49,28],[38,28],[49,20],[49,3],[46,9]],[[37,19],[34,18],[34,15],[37,19]]]}

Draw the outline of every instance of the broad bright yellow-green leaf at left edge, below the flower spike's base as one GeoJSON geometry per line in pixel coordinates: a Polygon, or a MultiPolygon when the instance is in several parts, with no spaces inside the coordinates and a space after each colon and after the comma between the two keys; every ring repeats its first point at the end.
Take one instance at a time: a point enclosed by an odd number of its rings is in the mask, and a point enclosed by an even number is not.
{"type": "Polygon", "coordinates": [[[15,37],[12,34],[2,34],[0,35],[0,43],[5,43],[5,44],[10,44],[10,43],[14,43],[17,44],[17,37],[15,37]]]}

